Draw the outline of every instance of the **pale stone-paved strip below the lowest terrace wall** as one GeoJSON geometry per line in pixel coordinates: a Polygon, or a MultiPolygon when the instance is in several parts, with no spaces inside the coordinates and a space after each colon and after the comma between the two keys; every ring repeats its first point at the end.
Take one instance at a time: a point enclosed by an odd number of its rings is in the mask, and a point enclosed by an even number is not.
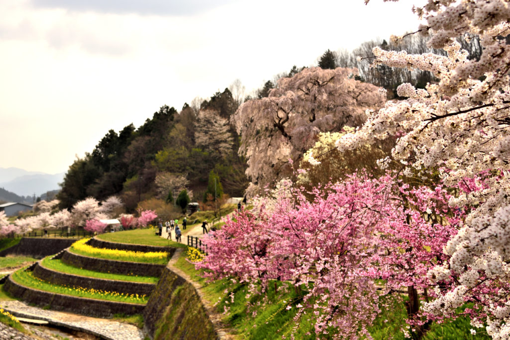
{"type": "MultiPolygon", "coordinates": [[[[144,338],[143,332],[138,327],[118,321],[32,307],[22,301],[4,301],[1,304],[5,310],[16,317],[44,320],[52,325],[91,333],[108,340],[143,340],[144,338]]],[[[3,334],[2,331],[0,331],[0,334],[3,334]]],[[[4,337],[0,338],[3,339],[4,337]]],[[[9,339],[10,337],[5,338],[9,339]]],[[[19,339],[24,340],[25,338],[20,337],[19,339]]]]}

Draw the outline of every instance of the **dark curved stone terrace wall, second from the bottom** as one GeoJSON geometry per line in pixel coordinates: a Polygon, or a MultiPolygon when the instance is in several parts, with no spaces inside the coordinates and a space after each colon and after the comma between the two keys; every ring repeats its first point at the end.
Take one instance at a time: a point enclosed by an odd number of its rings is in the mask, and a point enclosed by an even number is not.
{"type": "Polygon", "coordinates": [[[34,269],[34,276],[53,284],[65,284],[83,288],[94,288],[106,292],[118,292],[124,294],[138,294],[149,296],[156,286],[152,283],[141,283],[132,281],[106,280],[79,275],[56,272],[38,263],[34,269]]]}

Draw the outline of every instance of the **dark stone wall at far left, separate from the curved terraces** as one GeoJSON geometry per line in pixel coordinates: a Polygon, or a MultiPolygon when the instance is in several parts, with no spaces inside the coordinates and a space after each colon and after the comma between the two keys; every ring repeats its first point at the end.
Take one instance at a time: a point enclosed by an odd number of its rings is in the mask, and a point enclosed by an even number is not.
{"type": "Polygon", "coordinates": [[[26,255],[43,258],[66,249],[75,241],[77,239],[73,238],[23,237],[17,245],[1,251],[0,256],[26,255]]]}

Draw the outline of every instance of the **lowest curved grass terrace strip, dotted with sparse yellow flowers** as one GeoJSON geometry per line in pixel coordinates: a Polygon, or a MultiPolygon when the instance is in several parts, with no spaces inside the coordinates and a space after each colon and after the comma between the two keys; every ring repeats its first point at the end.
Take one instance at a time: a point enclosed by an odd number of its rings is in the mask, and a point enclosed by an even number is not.
{"type": "Polygon", "coordinates": [[[45,292],[64,294],[81,298],[128,302],[137,304],[145,304],[147,303],[148,300],[148,297],[146,297],[145,295],[143,296],[140,296],[138,294],[127,295],[120,294],[117,292],[105,292],[104,290],[86,289],[82,287],[52,284],[43,281],[39,278],[36,278],[32,272],[24,270],[19,270],[13,273],[11,275],[11,278],[14,280],[14,282],[27,287],[44,290],[45,292]]]}

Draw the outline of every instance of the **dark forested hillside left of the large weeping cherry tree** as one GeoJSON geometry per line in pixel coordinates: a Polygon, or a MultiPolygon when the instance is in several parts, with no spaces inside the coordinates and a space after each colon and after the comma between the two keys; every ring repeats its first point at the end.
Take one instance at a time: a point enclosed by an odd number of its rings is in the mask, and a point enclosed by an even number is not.
{"type": "Polygon", "coordinates": [[[108,131],[91,153],[69,167],[58,195],[61,207],[121,193],[126,209],[133,210],[145,199],[175,198],[183,188],[201,200],[211,171],[227,193],[242,195],[246,166],[228,123],[236,109],[225,89],[197,108],[185,104],[179,112],[165,105],[139,128],[130,124],[118,133],[108,131]]]}

